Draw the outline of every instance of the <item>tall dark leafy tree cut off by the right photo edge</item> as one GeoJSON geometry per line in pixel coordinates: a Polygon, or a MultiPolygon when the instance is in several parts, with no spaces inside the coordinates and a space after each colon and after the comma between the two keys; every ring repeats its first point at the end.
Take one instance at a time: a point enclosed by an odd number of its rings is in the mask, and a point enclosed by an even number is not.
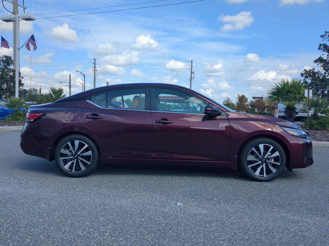
{"type": "Polygon", "coordinates": [[[304,69],[301,76],[304,78],[304,86],[313,89],[314,94],[329,99],[329,31],[321,36],[324,43],[319,44],[318,50],[322,54],[314,60],[314,63],[320,68],[304,69]]]}

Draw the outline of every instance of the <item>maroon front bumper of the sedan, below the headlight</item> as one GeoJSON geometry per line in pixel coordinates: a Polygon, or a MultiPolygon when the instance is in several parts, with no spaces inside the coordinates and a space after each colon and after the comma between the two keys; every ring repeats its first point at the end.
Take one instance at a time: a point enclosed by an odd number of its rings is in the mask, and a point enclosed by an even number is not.
{"type": "Polygon", "coordinates": [[[293,153],[290,153],[290,169],[307,168],[313,164],[312,141],[302,141],[294,144],[293,153]]]}

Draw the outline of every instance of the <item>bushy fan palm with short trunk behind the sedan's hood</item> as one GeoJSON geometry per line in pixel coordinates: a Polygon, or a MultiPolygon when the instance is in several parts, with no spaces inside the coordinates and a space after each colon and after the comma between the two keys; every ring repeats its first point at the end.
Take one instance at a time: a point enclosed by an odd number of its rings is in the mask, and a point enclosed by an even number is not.
{"type": "Polygon", "coordinates": [[[268,91],[268,99],[273,103],[283,103],[286,106],[284,110],[286,119],[294,122],[298,114],[295,105],[301,103],[304,99],[303,81],[296,78],[291,80],[281,79],[268,91]]]}

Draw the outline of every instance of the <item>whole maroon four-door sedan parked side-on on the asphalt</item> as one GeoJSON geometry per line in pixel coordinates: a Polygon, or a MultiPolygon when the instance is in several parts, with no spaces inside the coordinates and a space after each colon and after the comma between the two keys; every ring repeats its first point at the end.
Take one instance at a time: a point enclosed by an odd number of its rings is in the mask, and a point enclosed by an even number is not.
{"type": "Polygon", "coordinates": [[[269,181],[313,163],[307,132],[283,119],[235,112],[184,87],[100,87],[30,106],[21,134],[29,155],[72,177],[99,162],[197,163],[269,181]]]}

